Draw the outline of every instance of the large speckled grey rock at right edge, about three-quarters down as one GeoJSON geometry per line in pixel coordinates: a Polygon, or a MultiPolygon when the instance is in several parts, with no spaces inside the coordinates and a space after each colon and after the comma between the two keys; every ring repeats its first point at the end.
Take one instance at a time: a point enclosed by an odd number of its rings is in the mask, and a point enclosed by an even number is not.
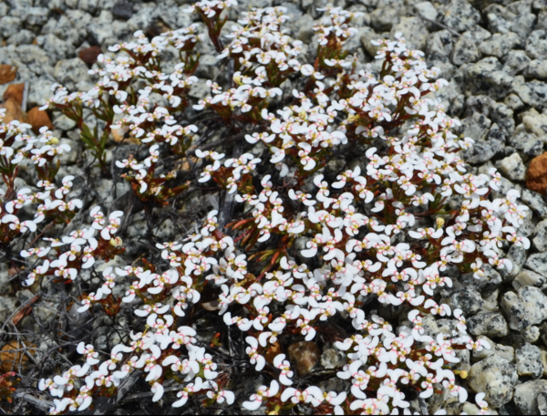
{"type": "Polygon", "coordinates": [[[503,311],[509,328],[523,330],[532,325],[541,324],[547,318],[547,296],[537,287],[521,287],[517,293],[506,292],[501,296],[503,311]]]}

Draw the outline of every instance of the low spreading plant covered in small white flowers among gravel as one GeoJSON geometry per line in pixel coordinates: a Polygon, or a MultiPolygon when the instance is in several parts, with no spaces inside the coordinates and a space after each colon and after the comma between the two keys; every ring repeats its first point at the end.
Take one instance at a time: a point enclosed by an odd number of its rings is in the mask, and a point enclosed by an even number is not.
{"type": "MultiPolygon", "coordinates": [[[[59,86],[45,106],[77,120],[102,167],[111,130],[148,149],[142,161],[116,161],[145,209],[191,190],[176,182],[177,172],[165,172],[168,156],[195,162],[195,186],[214,182],[209,190],[223,200],[195,234],[157,244],[160,261],[102,270],[103,281],[83,296],[78,312],[97,313],[101,305],[115,317],[129,308],[142,325],[110,351],[80,342],[79,363],[39,382],[55,398],[50,412],[88,409],[98,396],[116,396],[135,374],[150,384],[152,401],[173,407],[198,396],[203,406],[239,400],[249,411],[274,414],[296,406],[323,414],[410,414],[411,400],[438,394],[465,402],[461,351],[490,346],[468,335],[463,312],[439,303],[439,293],[459,274],[479,278],[484,265],[511,271],[505,242],[530,245],[517,234],[527,209],[519,193],[493,198],[500,174],[467,171],[459,151],[472,140],[455,136],[450,129],[459,121],[428,98],[447,82],[401,36],[377,41],[377,63],[363,67],[344,50],[356,33],[356,13],[326,7],[309,64],[302,42],[284,33],[283,7],[244,13],[224,46],[225,9],[232,5],[203,0],[189,8],[201,15],[208,37],[198,24],[151,40],[137,32],[136,41],[110,48],[117,57],[99,57],[101,68],[91,70],[101,77],[95,88],[68,94],[59,86]],[[208,38],[228,75],[208,79],[211,95],[192,104],[189,91],[200,81],[196,46],[208,38]],[[181,59],[170,73],[160,63],[168,47],[181,59]],[[103,121],[102,131],[80,122],[84,108],[103,121]],[[219,130],[223,140],[206,141],[219,130]],[[204,340],[197,314],[218,314],[222,331],[204,340]],[[451,332],[428,331],[425,322],[437,317],[450,318],[451,332]],[[287,357],[294,339],[341,352],[331,374],[336,388],[294,371],[287,357]],[[243,397],[233,366],[267,381],[243,397]]],[[[70,221],[83,208],[67,202],[74,178],[53,184],[51,161],[65,149],[48,131],[36,140],[25,128],[12,121],[0,130],[5,244],[16,233],[36,232],[45,217],[70,221]],[[24,158],[34,162],[46,192],[15,190],[24,158]],[[31,203],[40,204],[36,218],[21,222],[17,210],[31,203]]],[[[72,282],[98,258],[108,263],[122,255],[116,234],[124,213],[107,216],[97,206],[89,214],[87,228],[26,246],[21,255],[41,262],[26,285],[53,284],[47,276],[72,282]]],[[[487,414],[483,399],[477,395],[487,414]]]]}

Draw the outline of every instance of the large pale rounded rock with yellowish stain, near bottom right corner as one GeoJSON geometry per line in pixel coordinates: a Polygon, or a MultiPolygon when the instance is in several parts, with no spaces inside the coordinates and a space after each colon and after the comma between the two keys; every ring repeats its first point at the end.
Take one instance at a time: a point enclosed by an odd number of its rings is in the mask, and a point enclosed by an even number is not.
{"type": "Polygon", "coordinates": [[[511,401],[518,377],[514,364],[493,354],[471,367],[469,383],[475,392],[486,394],[491,407],[499,408],[511,401]]]}

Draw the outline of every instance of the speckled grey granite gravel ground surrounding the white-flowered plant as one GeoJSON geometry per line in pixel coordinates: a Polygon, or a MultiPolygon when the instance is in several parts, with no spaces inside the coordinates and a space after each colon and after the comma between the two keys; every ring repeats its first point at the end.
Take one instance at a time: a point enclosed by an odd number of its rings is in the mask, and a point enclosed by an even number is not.
{"type": "MultiPolygon", "coordinates": [[[[48,99],[53,83],[59,82],[69,90],[91,88],[94,79],[87,71],[96,65],[98,53],[129,40],[136,30],[155,36],[170,28],[190,25],[192,17],[182,13],[188,3],[191,2],[4,0],[0,3],[0,64],[5,64],[0,67],[3,106],[17,117],[27,117],[36,128],[53,124],[57,137],[72,147],[63,156],[61,169],[65,174],[84,178],[80,183],[88,202],[106,206],[130,203],[129,185],[119,179],[94,180],[93,172],[86,169],[87,155],[79,144],[75,123],[55,113],[49,114],[50,121],[35,108],[48,99]],[[15,67],[16,72],[7,66],[15,67]]],[[[239,0],[239,3],[230,11],[232,21],[249,6],[284,5],[291,16],[288,27],[292,35],[311,45],[312,27],[322,15],[318,9],[327,2],[239,0]]],[[[511,273],[500,274],[489,269],[482,279],[460,281],[443,296],[450,306],[464,310],[470,332],[487,338],[493,346],[468,356],[461,366],[469,371],[470,389],[487,391],[491,407],[500,414],[547,414],[547,152],[544,152],[547,1],[338,0],[335,5],[364,12],[356,22],[358,34],[349,43],[350,51],[361,62],[373,60],[376,47],[371,40],[402,32],[410,47],[423,50],[428,63],[442,69],[449,87],[439,93],[439,98],[449,115],[461,120],[458,133],[476,140],[475,146],[466,152],[465,160],[477,172],[487,172],[491,166],[499,168],[504,175],[501,194],[516,188],[521,191],[522,202],[532,209],[521,230],[531,239],[532,247],[528,251],[516,246],[511,249],[509,256],[516,265],[511,273]]],[[[226,28],[230,26],[228,22],[226,28]]],[[[309,54],[313,55],[311,49],[309,54]]],[[[205,46],[201,53],[197,75],[212,78],[218,71],[214,52],[205,46]]],[[[166,58],[169,61],[174,57],[166,58]]],[[[195,98],[206,93],[203,84],[191,91],[195,98]]],[[[114,137],[109,158],[127,155],[135,148],[131,143],[117,144],[114,137]]],[[[32,184],[32,178],[25,181],[32,184]]],[[[124,230],[126,255],[135,257],[145,253],[151,242],[187,233],[205,208],[214,203],[194,192],[176,208],[165,208],[153,218],[132,210],[124,230]]],[[[15,310],[28,305],[35,296],[21,288],[18,272],[13,262],[5,260],[1,265],[0,322],[11,319],[15,310]]],[[[70,332],[74,325],[81,325],[77,318],[70,317],[70,312],[68,324],[59,322],[56,302],[55,298],[40,299],[32,314],[21,320],[18,330],[46,334],[54,328],[70,332]]],[[[441,321],[431,323],[438,327],[441,324],[441,321]]],[[[2,330],[6,328],[4,325],[2,330]]],[[[88,330],[99,344],[113,337],[108,321],[96,320],[88,330]]],[[[14,347],[4,334],[2,337],[3,351],[14,347]]],[[[41,345],[39,338],[32,342],[42,353],[51,347],[41,345]]],[[[328,351],[325,353],[331,354],[328,351]]],[[[328,368],[333,358],[325,353],[321,364],[328,368]]],[[[0,354],[5,361],[2,370],[7,371],[10,369],[7,361],[13,361],[13,354],[0,354]]],[[[40,359],[36,357],[27,354],[19,361],[33,361],[37,365],[40,359]]]]}

